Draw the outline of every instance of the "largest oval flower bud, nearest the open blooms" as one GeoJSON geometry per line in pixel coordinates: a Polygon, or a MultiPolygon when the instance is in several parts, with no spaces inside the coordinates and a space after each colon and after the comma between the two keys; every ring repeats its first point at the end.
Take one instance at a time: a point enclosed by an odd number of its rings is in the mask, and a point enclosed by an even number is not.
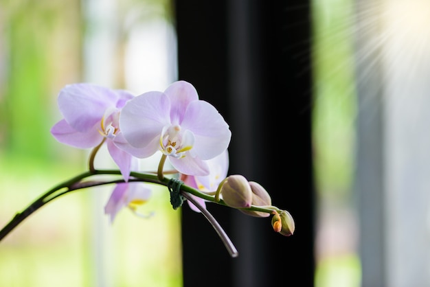
{"type": "Polygon", "coordinates": [[[245,176],[235,174],[228,176],[221,186],[220,193],[226,205],[234,208],[250,207],[252,191],[245,176]]]}

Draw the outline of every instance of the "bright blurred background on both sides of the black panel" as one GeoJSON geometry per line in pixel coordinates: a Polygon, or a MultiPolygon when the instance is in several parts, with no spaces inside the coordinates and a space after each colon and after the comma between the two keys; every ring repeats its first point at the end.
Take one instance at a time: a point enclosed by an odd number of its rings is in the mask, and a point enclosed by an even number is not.
{"type": "MultiPolygon", "coordinates": [[[[301,21],[312,31],[303,53],[313,60],[313,285],[428,286],[429,4],[303,3],[288,10],[308,11],[301,21]]],[[[177,80],[174,9],[168,0],[0,0],[0,227],[87,169],[88,150],[49,133],[66,84],[138,95],[177,80]]],[[[115,167],[103,155],[96,166],[115,167]]],[[[124,210],[113,225],[103,214],[110,191],[58,198],[14,229],[0,243],[0,286],[182,286],[181,214],[165,190],[146,207],[150,220],[124,210]]]]}

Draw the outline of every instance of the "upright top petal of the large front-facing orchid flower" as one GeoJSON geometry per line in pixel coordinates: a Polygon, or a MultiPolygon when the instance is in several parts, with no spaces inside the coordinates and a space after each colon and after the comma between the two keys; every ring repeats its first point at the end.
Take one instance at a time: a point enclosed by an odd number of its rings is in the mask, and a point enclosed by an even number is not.
{"type": "Polygon", "coordinates": [[[168,95],[171,103],[170,119],[172,124],[180,124],[188,104],[199,100],[199,95],[194,86],[185,81],[177,81],[170,84],[164,93],[168,95]]]}

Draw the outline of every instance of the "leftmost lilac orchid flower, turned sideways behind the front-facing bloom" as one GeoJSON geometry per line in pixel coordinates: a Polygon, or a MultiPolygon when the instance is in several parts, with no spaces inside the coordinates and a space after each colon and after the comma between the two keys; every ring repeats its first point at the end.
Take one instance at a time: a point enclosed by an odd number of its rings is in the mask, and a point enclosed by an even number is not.
{"type": "Polygon", "coordinates": [[[118,121],[121,108],[133,97],[127,91],[95,84],[67,85],[58,95],[58,108],[64,118],[52,127],[51,133],[61,143],[76,148],[95,148],[106,141],[109,154],[128,181],[130,171],[137,168],[137,159],[119,148],[128,143],[118,121]]]}

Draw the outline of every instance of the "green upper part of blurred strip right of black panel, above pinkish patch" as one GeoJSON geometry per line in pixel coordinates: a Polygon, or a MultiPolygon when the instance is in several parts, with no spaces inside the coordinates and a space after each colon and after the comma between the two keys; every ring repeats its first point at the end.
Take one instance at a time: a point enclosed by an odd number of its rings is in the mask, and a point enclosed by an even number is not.
{"type": "Polygon", "coordinates": [[[353,1],[315,0],[314,113],[315,171],[319,190],[350,194],[354,167],[353,1]]]}

